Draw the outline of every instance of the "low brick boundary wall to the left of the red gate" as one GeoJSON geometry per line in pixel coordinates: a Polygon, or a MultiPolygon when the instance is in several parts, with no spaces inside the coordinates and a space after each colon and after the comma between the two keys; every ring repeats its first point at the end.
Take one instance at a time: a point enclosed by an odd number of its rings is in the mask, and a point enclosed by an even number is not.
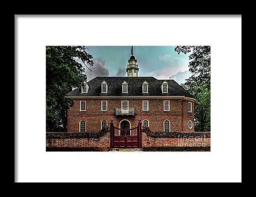
{"type": "Polygon", "coordinates": [[[46,139],[46,147],[86,147],[96,148],[99,151],[109,151],[110,133],[108,132],[100,138],[46,139]]]}

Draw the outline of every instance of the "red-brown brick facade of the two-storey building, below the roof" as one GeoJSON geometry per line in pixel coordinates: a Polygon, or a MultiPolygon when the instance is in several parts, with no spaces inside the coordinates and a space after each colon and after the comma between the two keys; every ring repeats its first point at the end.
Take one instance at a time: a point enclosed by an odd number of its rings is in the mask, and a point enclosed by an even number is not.
{"type": "Polygon", "coordinates": [[[194,131],[194,102],[192,102],[192,113],[188,112],[188,100],[182,99],[74,99],[74,106],[68,110],[68,132],[79,132],[79,121],[87,122],[87,131],[98,131],[101,129],[102,119],[110,125],[111,117],[114,126],[119,127],[122,119],[131,122],[131,127],[136,127],[138,118],[142,121],[148,119],[149,127],[153,131],[163,131],[163,121],[169,119],[171,131],[194,131]],[[86,101],[86,111],[80,111],[80,100],[86,101]],[[108,111],[101,111],[101,101],[108,101],[108,111]],[[136,116],[116,116],[116,107],[121,107],[121,101],[128,100],[129,107],[135,108],[136,116]],[[142,101],[148,100],[148,111],[142,110],[142,101]],[[170,101],[170,111],[163,110],[163,101],[170,101]],[[183,112],[183,118],[182,118],[183,112]],[[189,129],[187,122],[192,120],[193,127],[189,129]],[[183,126],[183,127],[182,127],[183,126]]]}

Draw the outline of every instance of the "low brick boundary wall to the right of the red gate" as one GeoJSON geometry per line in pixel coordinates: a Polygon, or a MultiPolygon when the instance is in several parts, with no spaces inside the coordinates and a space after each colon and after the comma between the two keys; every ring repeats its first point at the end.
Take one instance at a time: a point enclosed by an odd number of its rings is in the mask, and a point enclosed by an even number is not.
{"type": "Polygon", "coordinates": [[[209,147],[210,138],[153,138],[142,132],[143,147],[209,147]]]}

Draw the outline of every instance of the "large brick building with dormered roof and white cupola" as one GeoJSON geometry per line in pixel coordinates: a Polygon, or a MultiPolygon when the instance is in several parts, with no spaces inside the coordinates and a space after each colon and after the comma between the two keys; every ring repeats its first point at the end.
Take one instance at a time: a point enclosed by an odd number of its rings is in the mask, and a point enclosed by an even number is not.
{"type": "MultiPolygon", "coordinates": [[[[74,101],[73,107],[67,110],[67,131],[99,131],[110,126],[112,118],[116,138],[110,140],[117,147],[125,148],[128,137],[138,135],[132,128],[137,127],[139,118],[152,131],[193,132],[193,96],[174,80],[138,77],[136,63],[131,53],[127,77],[95,77],[84,82],[84,86],[73,88],[67,94],[74,101]]],[[[135,141],[134,138],[131,147],[138,145],[135,141]]]]}

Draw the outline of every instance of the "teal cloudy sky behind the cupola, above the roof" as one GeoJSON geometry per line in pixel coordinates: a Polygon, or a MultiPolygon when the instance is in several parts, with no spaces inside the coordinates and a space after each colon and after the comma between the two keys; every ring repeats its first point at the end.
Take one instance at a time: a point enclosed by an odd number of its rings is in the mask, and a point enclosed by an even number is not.
{"type": "MultiPolygon", "coordinates": [[[[87,46],[93,55],[95,71],[90,74],[85,68],[87,81],[96,76],[127,76],[126,68],[131,57],[131,46],[87,46]]],[[[174,79],[178,84],[185,83],[191,76],[189,55],[180,55],[175,46],[133,46],[137,59],[138,76],[152,76],[157,79],[174,79]]]]}

